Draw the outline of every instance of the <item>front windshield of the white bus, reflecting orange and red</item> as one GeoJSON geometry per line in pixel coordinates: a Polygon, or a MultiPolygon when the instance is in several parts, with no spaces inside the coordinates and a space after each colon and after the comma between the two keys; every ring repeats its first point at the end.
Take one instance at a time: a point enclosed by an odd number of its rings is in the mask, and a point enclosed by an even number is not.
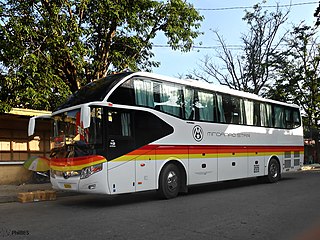
{"type": "Polygon", "coordinates": [[[77,157],[91,153],[90,149],[102,144],[101,108],[91,109],[91,124],[87,129],[82,127],[80,108],[54,115],[52,133],[51,155],[77,157]]]}

